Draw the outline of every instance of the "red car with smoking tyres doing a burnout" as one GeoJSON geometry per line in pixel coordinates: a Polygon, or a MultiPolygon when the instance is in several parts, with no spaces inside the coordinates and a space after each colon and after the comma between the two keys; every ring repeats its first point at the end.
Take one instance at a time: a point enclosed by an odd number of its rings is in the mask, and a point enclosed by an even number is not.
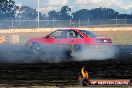
{"type": "MultiPolygon", "coordinates": [[[[59,29],[46,37],[33,38],[27,41],[33,53],[72,56],[72,53],[84,49],[96,49],[111,52],[111,38],[97,37],[93,32],[79,29],[59,29]]],[[[96,53],[95,53],[96,55],[96,53]]],[[[74,56],[73,56],[74,57],[74,56]]]]}

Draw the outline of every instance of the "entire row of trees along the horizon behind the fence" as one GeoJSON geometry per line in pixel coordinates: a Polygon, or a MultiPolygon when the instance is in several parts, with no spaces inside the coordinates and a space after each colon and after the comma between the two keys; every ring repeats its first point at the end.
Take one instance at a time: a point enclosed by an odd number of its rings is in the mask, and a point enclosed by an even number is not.
{"type": "MultiPolygon", "coordinates": [[[[0,0],[0,20],[35,20],[37,10],[29,6],[16,6],[13,0],[0,0]]],[[[52,10],[48,14],[39,12],[40,20],[97,20],[97,19],[132,19],[132,14],[120,14],[112,8],[81,9],[72,12],[69,6],[61,7],[60,11],[52,10]]]]}

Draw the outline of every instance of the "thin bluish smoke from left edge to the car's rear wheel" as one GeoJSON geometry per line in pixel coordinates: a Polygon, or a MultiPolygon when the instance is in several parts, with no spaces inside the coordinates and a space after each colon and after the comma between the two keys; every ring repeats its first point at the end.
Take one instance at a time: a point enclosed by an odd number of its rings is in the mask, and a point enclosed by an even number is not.
{"type": "Polygon", "coordinates": [[[66,60],[66,48],[45,47],[46,53],[36,55],[32,49],[20,45],[1,45],[0,63],[59,63],[66,60]]]}

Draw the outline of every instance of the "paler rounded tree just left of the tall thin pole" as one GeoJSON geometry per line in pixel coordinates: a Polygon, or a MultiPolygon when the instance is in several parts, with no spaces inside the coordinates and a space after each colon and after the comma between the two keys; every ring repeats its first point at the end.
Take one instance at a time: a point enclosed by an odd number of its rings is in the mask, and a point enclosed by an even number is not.
{"type": "Polygon", "coordinates": [[[36,9],[33,9],[28,6],[22,6],[19,9],[19,13],[17,15],[18,15],[18,19],[21,20],[34,20],[38,16],[36,9]]]}

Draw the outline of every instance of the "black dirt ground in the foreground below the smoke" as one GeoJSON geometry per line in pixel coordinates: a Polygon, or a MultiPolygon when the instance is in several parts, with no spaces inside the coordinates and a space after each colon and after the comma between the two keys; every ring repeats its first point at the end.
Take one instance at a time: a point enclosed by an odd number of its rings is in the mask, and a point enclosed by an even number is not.
{"type": "Polygon", "coordinates": [[[0,84],[13,86],[79,86],[78,73],[89,68],[90,79],[132,79],[132,59],[35,64],[0,64],[0,84]]]}

